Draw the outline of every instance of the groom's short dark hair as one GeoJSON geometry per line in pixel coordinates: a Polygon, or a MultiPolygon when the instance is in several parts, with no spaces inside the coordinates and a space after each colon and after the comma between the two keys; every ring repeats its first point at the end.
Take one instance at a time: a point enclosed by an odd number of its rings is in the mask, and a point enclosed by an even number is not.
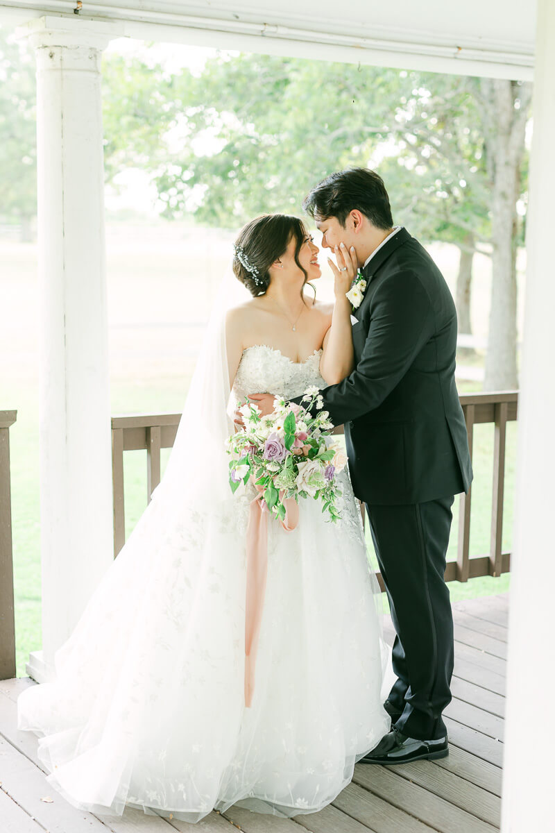
{"type": "Polygon", "coordinates": [[[393,227],[384,180],[368,167],[349,167],[330,173],[305,197],[303,208],[316,221],[337,217],[342,226],[349,212],[356,208],[376,228],[393,227]]]}

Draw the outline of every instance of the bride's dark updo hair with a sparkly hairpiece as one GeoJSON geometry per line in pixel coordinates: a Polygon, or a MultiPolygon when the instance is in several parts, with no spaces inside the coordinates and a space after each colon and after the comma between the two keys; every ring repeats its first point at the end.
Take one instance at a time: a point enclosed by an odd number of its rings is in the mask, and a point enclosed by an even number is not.
{"type": "MultiPolygon", "coordinates": [[[[300,265],[300,247],[306,237],[306,229],[299,217],[289,214],[263,214],[247,222],[235,240],[233,272],[245,284],[251,295],[264,295],[270,285],[269,269],[278,257],[285,254],[291,237],[295,237],[295,263],[300,265]]],[[[312,287],[312,284],[310,284],[312,287]]]]}

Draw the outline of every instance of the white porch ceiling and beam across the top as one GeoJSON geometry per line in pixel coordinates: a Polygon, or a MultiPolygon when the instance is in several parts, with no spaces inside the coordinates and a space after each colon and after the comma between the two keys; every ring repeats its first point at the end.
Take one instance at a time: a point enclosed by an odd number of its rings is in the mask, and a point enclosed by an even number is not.
{"type": "MultiPolygon", "coordinates": [[[[74,0],[0,0],[0,21],[71,14],[74,0]]],[[[293,54],[499,77],[532,77],[536,0],[101,0],[81,17],[121,22],[121,33],[293,54]]]]}

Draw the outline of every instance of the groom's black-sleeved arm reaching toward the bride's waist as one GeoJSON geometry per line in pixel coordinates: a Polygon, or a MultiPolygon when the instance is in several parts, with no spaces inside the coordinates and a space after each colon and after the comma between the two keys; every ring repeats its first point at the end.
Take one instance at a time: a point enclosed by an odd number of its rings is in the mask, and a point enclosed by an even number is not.
{"type": "MultiPolygon", "coordinates": [[[[372,298],[370,327],[359,363],[342,382],[321,391],[334,425],[379,407],[433,335],[432,305],[419,277],[399,272],[384,281],[372,298]]],[[[301,401],[301,397],[292,400],[301,401]]]]}

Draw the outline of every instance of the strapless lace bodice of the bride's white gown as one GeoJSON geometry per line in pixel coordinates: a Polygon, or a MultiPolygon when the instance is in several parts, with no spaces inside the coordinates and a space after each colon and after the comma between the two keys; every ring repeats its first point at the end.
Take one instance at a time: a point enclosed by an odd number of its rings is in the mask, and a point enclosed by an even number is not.
{"type": "Polygon", "coordinates": [[[304,362],[292,362],[274,347],[256,344],[246,347],[235,375],[233,391],[237,399],[250,393],[273,393],[291,399],[310,385],[325,387],[320,376],[322,351],[315,350],[304,362]]]}

